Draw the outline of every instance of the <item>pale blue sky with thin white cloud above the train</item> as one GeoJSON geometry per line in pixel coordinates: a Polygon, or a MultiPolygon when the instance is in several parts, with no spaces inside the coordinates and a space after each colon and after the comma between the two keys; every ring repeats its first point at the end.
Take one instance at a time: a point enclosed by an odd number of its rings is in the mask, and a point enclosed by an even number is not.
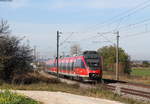
{"type": "Polygon", "coordinates": [[[150,60],[150,0],[13,0],[0,2],[0,19],[10,24],[12,35],[36,46],[44,57],[56,54],[56,31],[60,53],[70,46],[97,50],[116,43],[133,60],[150,60]],[[68,38],[69,37],[69,38],[68,38]],[[64,40],[66,40],[64,42],[64,40]]]}

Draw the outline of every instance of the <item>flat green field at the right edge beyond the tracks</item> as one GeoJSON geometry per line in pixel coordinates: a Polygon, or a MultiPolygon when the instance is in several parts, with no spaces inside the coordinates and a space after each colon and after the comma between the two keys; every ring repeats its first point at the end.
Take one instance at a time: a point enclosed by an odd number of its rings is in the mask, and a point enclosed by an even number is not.
{"type": "Polygon", "coordinates": [[[133,68],[131,75],[150,77],[150,68],[133,68]]]}

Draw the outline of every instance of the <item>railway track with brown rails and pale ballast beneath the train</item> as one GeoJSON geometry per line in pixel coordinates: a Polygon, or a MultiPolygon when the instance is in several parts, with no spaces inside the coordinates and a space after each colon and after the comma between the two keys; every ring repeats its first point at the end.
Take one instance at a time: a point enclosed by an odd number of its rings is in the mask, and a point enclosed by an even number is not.
{"type": "MultiPolygon", "coordinates": [[[[42,73],[43,74],[43,73],[42,73]]],[[[49,76],[49,74],[44,73],[44,75],[49,76]]],[[[53,76],[56,77],[56,76],[53,76]]],[[[66,78],[60,78],[62,82],[66,82],[68,84],[77,83],[80,87],[83,88],[97,88],[98,86],[102,86],[106,90],[110,90],[114,93],[117,93],[121,96],[126,96],[133,99],[143,100],[150,102],[150,86],[137,84],[137,83],[130,83],[125,81],[116,81],[110,79],[103,79],[104,83],[83,83],[76,80],[70,80],[66,78]]]]}

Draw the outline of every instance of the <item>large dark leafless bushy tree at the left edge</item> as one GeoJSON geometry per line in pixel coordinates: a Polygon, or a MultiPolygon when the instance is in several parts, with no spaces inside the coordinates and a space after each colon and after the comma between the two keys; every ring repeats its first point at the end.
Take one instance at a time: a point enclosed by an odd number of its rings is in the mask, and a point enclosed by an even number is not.
{"type": "Polygon", "coordinates": [[[9,35],[9,25],[0,24],[0,78],[11,81],[17,74],[31,71],[32,49],[22,39],[9,35]]]}

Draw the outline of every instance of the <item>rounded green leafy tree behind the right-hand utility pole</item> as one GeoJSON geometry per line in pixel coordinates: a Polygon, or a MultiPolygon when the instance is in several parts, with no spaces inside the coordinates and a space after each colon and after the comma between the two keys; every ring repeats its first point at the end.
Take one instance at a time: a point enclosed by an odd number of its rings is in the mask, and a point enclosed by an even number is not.
{"type": "MultiPolygon", "coordinates": [[[[108,70],[109,66],[116,63],[115,46],[104,46],[98,49],[98,53],[104,58],[104,66],[108,70]]],[[[124,73],[130,73],[130,57],[122,48],[119,48],[119,63],[124,65],[124,73]]]]}

